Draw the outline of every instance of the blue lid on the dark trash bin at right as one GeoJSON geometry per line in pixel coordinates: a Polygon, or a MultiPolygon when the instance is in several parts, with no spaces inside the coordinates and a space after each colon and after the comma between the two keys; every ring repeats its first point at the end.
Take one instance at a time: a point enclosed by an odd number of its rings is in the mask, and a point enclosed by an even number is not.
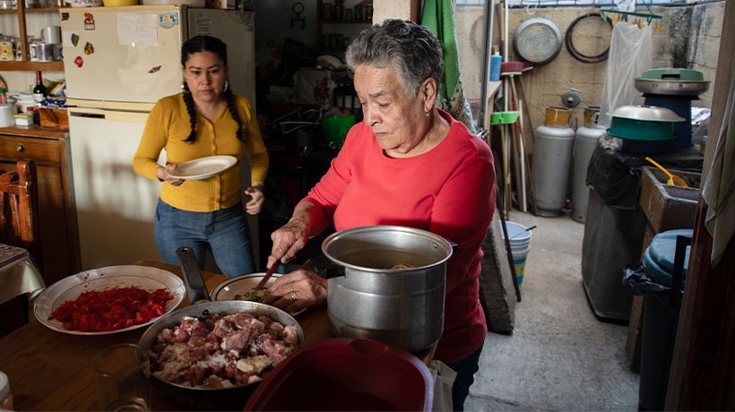
{"type": "MultiPolygon", "coordinates": [[[[671,277],[674,271],[674,257],[676,254],[677,236],[693,235],[692,229],[675,229],[667,230],[653,236],[651,245],[644,252],[644,270],[656,282],[671,286],[671,277]]],[[[691,246],[687,246],[687,253],[684,256],[684,270],[682,272],[682,282],[687,276],[687,266],[689,262],[689,251],[691,246]]]]}

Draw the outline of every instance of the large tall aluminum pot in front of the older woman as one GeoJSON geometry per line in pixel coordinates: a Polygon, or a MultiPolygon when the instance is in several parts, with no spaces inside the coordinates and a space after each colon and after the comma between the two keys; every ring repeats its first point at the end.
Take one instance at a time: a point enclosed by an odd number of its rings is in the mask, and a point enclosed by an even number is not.
{"type": "Polygon", "coordinates": [[[322,252],[332,266],[315,259],[312,269],[329,279],[333,335],[376,339],[408,352],[437,343],[452,256],[444,237],[412,227],[356,227],[328,236],[322,252]],[[393,269],[399,264],[410,267],[393,269]]]}

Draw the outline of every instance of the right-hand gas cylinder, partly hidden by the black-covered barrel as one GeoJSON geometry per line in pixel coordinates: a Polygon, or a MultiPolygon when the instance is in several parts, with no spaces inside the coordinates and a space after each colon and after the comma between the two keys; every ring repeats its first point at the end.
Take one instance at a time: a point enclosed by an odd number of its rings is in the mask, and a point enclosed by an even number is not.
{"type": "Polygon", "coordinates": [[[592,152],[597,146],[605,129],[597,125],[600,107],[584,107],[584,124],[575,133],[574,168],[572,175],[572,219],[584,223],[587,214],[587,166],[592,159],[592,152]]]}

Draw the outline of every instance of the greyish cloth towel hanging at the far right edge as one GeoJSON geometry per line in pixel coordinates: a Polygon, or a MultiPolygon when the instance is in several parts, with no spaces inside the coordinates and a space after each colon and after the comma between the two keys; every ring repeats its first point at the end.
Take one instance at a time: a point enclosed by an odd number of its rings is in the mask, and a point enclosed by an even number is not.
{"type": "MultiPolygon", "coordinates": [[[[731,53],[731,56],[735,67],[735,55],[731,53]]],[[[715,267],[735,233],[735,82],[732,81],[702,197],[707,203],[705,227],[713,239],[710,262],[715,267]]]]}

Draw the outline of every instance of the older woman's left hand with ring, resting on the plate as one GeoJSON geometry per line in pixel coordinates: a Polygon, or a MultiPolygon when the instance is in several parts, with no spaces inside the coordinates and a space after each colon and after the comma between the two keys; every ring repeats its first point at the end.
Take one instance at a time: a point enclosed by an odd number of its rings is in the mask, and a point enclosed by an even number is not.
{"type": "Polygon", "coordinates": [[[326,279],[311,270],[299,269],[280,276],[268,287],[264,304],[293,313],[326,304],[326,279]]]}

